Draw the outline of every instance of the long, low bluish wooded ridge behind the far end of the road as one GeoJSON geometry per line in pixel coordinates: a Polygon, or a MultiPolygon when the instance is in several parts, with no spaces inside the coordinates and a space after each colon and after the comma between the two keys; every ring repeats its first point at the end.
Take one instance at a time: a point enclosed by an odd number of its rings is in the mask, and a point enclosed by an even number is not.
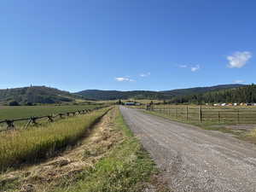
{"type": "Polygon", "coordinates": [[[86,99],[94,100],[116,100],[116,99],[161,99],[167,100],[174,96],[188,96],[196,93],[205,93],[213,90],[226,90],[236,87],[245,86],[244,84],[221,84],[210,87],[195,87],[180,90],[165,90],[165,91],[149,91],[149,90],[82,90],[77,92],[77,95],[84,96],[86,99]]]}

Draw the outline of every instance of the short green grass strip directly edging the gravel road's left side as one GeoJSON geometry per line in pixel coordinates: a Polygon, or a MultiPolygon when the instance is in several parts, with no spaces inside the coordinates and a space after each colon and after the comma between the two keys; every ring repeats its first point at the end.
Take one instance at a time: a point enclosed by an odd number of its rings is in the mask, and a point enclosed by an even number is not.
{"type": "Polygon", "coordinates": [[[66,180],[55,192],[138,192],[145,189],[152,175],[158,172],[154,161],[133,137],[120,112],[114,119],[114,126],[123,133],[123,142],[93,168],[79,173],[71,183],[66,180]]]}

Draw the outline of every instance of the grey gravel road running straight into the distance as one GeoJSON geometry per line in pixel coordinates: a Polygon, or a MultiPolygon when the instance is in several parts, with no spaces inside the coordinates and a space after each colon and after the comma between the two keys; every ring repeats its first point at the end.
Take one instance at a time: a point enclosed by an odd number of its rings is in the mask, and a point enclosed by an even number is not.
{"type": "Polygon", "coordinates": [[[120,107],[174,191],[256,192],[256,147],[218,131],[120,107]]]}

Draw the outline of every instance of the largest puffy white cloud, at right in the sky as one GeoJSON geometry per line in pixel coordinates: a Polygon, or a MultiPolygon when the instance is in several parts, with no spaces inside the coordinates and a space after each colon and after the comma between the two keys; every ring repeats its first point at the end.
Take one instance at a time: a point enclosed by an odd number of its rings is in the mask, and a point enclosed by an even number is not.
{"type": "Polygon", "coordinates": [[[227,56],[227,60],[230,61],[228,67],[241,68],[247,64],[247,61],[252,57],[252,53],[249,51],[235,52],[233,55],[227,56]]]}

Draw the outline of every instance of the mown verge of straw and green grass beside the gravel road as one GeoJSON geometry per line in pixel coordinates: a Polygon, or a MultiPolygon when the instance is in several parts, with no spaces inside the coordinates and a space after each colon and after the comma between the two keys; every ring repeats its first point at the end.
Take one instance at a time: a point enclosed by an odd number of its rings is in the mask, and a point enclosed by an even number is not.
{"type": "Polygon", "coordinates": [[[169,191],[118,108],[88,131],[79,146],[60,156],[0,175],[0,191],[169,191]]]}

